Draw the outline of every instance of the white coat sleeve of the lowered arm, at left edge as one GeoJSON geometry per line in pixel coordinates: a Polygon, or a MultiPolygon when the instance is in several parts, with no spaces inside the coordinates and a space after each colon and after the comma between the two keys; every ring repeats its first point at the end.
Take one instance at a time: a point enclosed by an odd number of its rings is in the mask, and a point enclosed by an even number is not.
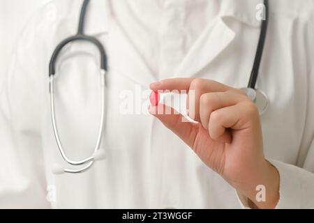
{"type": "Polygon", "coordinates": [[[36,27],[34,22],[19,36],[0,92],[0,208],[50,208],[40,135],[43,61],[36,27]]]}

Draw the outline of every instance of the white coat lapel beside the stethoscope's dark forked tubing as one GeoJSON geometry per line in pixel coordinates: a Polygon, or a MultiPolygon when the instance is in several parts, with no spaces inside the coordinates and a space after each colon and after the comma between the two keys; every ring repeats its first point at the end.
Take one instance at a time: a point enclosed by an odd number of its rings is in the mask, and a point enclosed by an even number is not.
{"type": "Polygon", "coordinates": [[[109,72],[122,75],[145,88],[151,82],[156,82],[154,73],[112,18],[110,1],[94,0],[89,4],[84,30],[87,35],[95,36],[105,43],[109,72]]]}

